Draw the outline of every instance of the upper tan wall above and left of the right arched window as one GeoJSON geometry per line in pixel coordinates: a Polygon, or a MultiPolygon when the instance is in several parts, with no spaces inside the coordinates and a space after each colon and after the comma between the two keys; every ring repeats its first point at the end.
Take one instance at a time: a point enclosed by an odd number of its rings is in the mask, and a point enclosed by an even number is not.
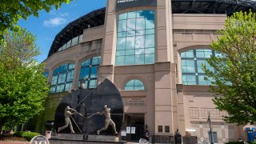
{"type": "Polygon", "coordinates": [[[224,14],[173,14],[174,63],[178,66],[177,83],[182,83],[180,54],[186,50],[207,49],[224,28],[224,14]]]}

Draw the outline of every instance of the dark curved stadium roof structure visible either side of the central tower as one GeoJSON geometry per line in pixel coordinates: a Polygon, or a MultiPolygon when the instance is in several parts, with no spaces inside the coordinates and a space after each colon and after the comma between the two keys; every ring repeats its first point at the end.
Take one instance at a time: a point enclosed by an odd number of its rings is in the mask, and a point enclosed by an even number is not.
{"type": "MultiPolygon", "coordinates": [[[[237,11],[256,11],[254,0],[171,0],[173,14],[226,14],[237,11]]],[[[104,25],[106,8],[94,10],[64,27],[50,46],[50,55],[58,51],[70,39],[82,34],[83,30],[104,25]]]]}

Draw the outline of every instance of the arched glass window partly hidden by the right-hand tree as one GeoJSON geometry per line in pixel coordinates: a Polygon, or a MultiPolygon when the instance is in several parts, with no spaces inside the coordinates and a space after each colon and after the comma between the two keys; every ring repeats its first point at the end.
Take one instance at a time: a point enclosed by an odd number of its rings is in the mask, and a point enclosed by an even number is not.
{"type": "Polygon", "coordinates": [[[183,85],[210,85],[204,78],[206,74],[202,70],[202,64],[209,70],[214,69],[206,62],[210,56],[218,56],[214,50],[197,49],[182,52],[182,83],[183,85]]]}

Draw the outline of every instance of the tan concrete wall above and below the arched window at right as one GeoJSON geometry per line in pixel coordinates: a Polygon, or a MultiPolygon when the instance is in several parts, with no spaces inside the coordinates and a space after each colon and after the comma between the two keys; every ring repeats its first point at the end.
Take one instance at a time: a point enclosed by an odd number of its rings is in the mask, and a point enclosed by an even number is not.
{"type": "MultiPolygon", "coordinates": [[[[198,136],[198,142],[209,141],[206,110],[213,110],[211,114],[213,130],[217,131],[218,142],[224,143],[237,140],[241,136],[241,127],[227,124],[215,107],[209,92],[209,86],[183,86],[180,54],[186,50],[210,49],[210,43],[217,39],[217,31],[224,27],[226,16],[222,14],[173,14],[174,29],[174,63],[177,64],[176,84],[178,86],[178,121],[181,134],[185,130],[198,136]],[[198,116],[193,116],[192,109],[198,110],[198,116]],[[217,116],[219,113],[219,116],[217,116]],[[184,124],[184,126],[182,125],[184,124]],[[240,128],[239,128],[240,127],[240,128]]],[[[197,114],[196,114],[197,115],[197,114]]]]}

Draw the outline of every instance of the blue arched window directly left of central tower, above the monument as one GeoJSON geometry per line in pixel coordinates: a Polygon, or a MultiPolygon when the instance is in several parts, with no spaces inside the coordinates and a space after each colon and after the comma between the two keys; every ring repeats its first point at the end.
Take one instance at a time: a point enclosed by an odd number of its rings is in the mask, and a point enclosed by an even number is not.
{"type": "Polygon", "coordinates": [[[86,89],[93,89],[97,86],[97,77],[98,77],[98,66],[101,63],[101,57],[94,57],[86,59],[82,62],[80,70],[80,81],[82,78],[86,80],[86,89]]]}

